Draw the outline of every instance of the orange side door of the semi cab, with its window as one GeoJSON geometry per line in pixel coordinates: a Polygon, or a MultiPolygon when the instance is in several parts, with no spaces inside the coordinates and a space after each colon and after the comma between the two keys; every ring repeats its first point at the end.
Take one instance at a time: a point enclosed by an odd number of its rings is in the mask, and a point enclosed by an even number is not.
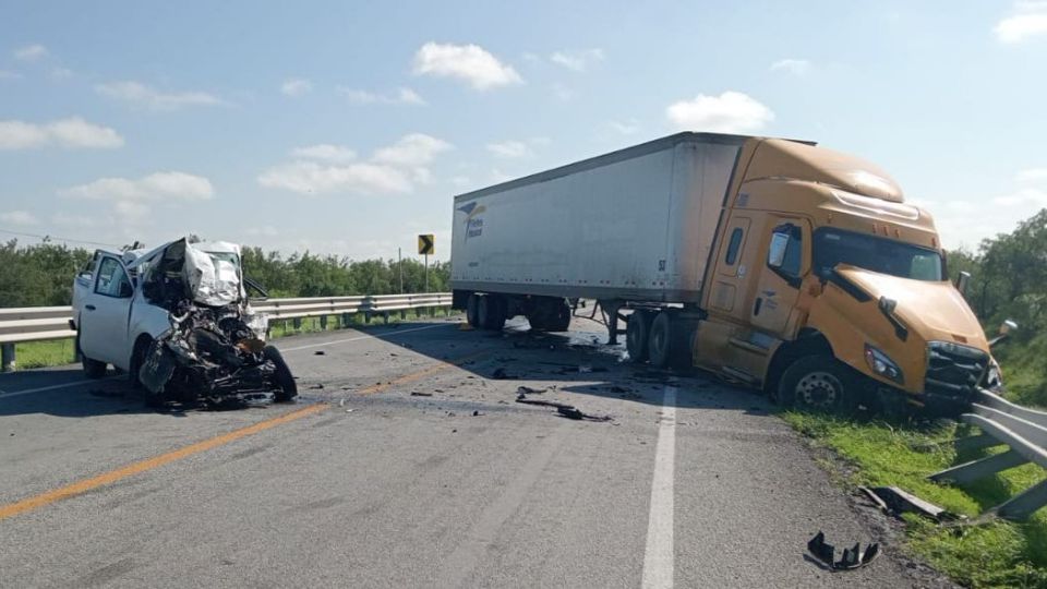
{"type": "Polygon", "coordinates": [[[810,267],[810,224],[804,219],[778,218],[767,225],[768,235],[759,284],[753,298],[749,322],[758,329],[792,339],[790,318],[796,312],[796,301],[803,276],[810,267]]]}

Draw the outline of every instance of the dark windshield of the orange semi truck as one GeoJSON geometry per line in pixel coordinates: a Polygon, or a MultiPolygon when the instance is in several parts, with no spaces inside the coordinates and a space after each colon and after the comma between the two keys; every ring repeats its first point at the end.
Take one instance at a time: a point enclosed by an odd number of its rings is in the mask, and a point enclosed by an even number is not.
{"type": "Polygon", "coordinates": [[[935,250],[876,236],[821,228],[815,231],[815,272],[822,278],[837,264],[915,280],[942,278],[941,255],[935,250]]]}

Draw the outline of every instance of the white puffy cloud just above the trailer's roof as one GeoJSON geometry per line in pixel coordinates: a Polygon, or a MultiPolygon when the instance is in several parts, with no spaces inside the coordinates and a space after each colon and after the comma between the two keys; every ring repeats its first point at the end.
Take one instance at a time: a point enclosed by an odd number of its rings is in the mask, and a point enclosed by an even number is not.
{"type": "Polygon", "coordinates": [[[699,94],[665,109],[678,129],[714,133],[750,133],[774,120],[774,112],[750,96],[727,91],[720,96],[699,94]]]}

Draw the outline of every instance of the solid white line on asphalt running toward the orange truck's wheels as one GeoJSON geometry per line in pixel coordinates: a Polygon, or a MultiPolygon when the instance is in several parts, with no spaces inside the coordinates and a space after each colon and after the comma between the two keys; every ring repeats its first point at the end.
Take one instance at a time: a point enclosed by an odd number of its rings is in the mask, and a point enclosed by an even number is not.
{"type": "Polygon", "coordinates": [[[647,521],[647,549],[643,552],[643,588],[671,588],[675,557],[673,553],[673,479],[676,460],[676,388],[665,387],[662,419],[654,450],[654,478],[651,481],[651,513],[647,521]]]}

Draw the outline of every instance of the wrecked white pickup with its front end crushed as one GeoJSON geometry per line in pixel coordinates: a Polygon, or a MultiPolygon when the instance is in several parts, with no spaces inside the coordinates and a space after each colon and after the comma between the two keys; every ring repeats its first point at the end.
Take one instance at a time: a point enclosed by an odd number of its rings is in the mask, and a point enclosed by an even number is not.
{"type": "Polygon", "coordinates": [[[127,371],[151,405],[289,401],[290,369],[265,342],[240,247],[183,238],[154,250],[98,250],[73,283],[76,347],[88,377],[127,371]]]}

